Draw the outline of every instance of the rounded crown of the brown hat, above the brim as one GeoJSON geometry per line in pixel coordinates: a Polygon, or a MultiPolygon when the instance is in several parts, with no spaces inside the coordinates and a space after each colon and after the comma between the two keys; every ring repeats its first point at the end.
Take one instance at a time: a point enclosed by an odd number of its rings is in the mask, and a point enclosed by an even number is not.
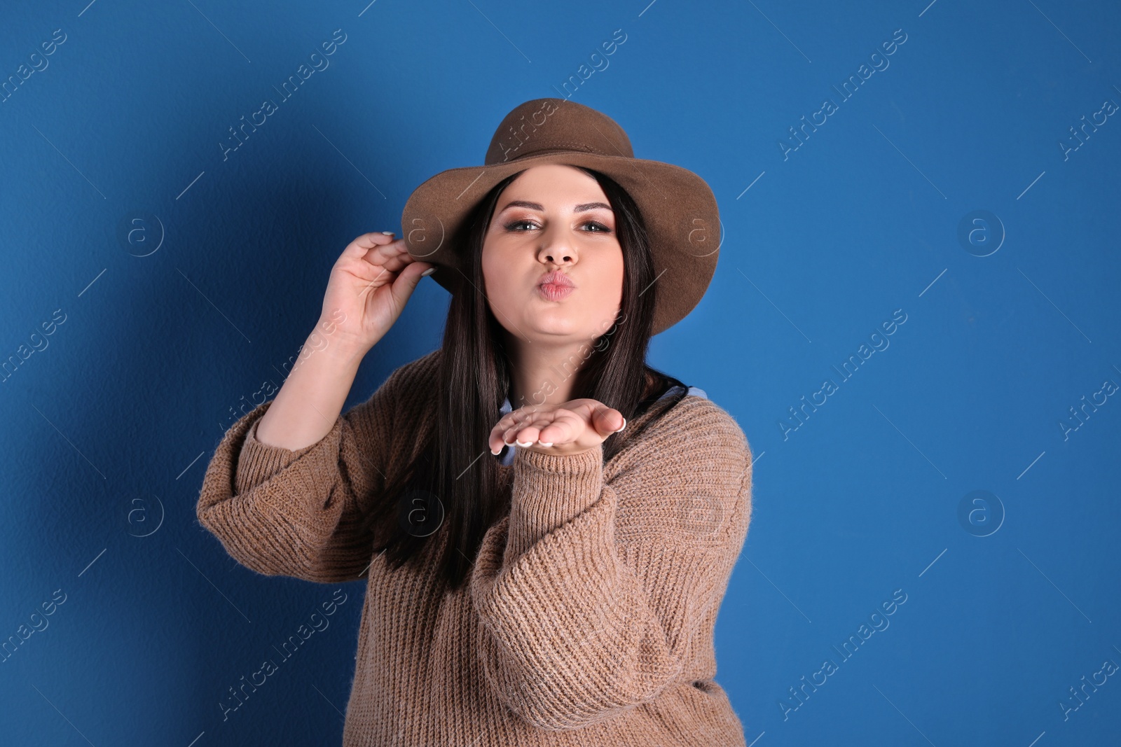
{"type": "Polygon", "coordinates": [[[603,112],[567,99],[532,99],[502,118],[483,164],[560,151],[634,157],[630,138],[603,112]]]}

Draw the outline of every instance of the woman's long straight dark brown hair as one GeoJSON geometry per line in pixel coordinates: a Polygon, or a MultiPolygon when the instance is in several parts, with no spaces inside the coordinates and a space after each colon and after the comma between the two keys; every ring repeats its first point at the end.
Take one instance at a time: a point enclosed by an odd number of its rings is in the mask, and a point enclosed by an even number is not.
{"type": "MultiPolygon", "coordinates": [[[[573,374],[571,398],[599,400],[619,410],[629,423],[668,386],[682,382],[646,364],[658,289],[642,216],[613,179],[576,168],[595,178],[614,211],[623,252],[623,289],[615,324],[593,342],[591,355],[573,374]],[[655,382],[649,389],[648,373],[655,382]]],[[[438,563],[439,575],[453,589],[466,579],[487,529],[509,507],[509,494],[499,485],[498,457],[490,452],[488,438],[510,393],[511,364],[504,330],[482,292],[481,258],[494,205],[522,172],[497,184],[452,237],[463,250],[465,267],[452,292],[444,327],[433,392],[436,424],[421,436],[425,443],[413,461],[389,476],[381,499],[367,516],[368,526],[388,530],[376,533],[373,552],[385,551],[395,568],[410,560],[419,564],[418,551],[437,532],[448,532],[438,563]]],[[[665,398],[663,412],[683,395],[665,398]]],[[[511,402],[515,410],[527,404],[532,403],[511,402]]],[[[603,442],[604,464],[636,436],[631,428],[609,436],[603,442]]]]}

